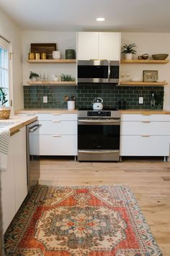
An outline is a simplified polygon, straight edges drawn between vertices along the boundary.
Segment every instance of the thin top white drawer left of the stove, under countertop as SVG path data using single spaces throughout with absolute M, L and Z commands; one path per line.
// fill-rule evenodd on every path
M 77 114 L 58 114 L 58 113 L 53 113 L 53 114 L 37 114 L 38 120 L 42 121 L 53 121 L 53 120 L 77 120 Z

